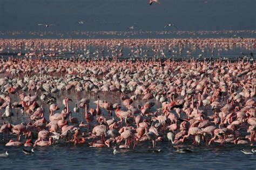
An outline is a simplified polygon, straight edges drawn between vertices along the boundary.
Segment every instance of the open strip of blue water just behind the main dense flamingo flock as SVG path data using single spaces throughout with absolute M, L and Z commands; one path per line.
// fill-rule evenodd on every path
M 226 50 L 222 50 L 220 52 L 218 52 L 218 49 L 211 49 L 210 47 L 205 47 L 205 52 L 202 52 L 202 49 L 197 49 L 195 51 L 191 51 L 191 46 L 186 46 L 183 51 L 181 53 L 179 53 L 179 48 L 173 47 L 172 50 L 176 51 L 176 52 L 172 52 L 172 51 L 168 51 L 168 47 L 167 46 L 162 46 L 161 49 L 163 50 L 163 52 L 165 53 L 165 56 L 159 54 L 156 54 L 152 51 L 151 46 L 142 46 L 142 48 L 144 50 L 149 50 L 149 52 L 144 52 L 140 55 L 131 55 L 132 52 L 132 48 L 129 46 L 124 46 L 123 47 L 123 56 L 122 57 L 118 57 L 119 60 L 123 60 L 123 59 L 152 59 L 152 58 L 156 58 L 156 59 L 173 59 L 173 60 L 181 60 L 181 59 L 190 59 L 190 58 L 196 58 L 199 60 L 203 60 L 203 59 L 207 59 L 207 58 L 213 58 L 213 59 L 219 59 L 219 58 L 228 58 L 230 60 L 236 61 L 238 60 L 238 58 L 243 58 L 243 57 L 248 57 L 251 58 L 251 54 L 255 57 L 255 53 L 256 53 L 256 49 L 252 48 L 252 49 L 246 49 L 244 47 L 234 47 L 232 49 L 226 49 Z M 90 55 L 86 55 L 86 51 L 83 50 L 78 50 L 76 52 L 65 52 L 65 53 L 61 53 L 61 54 L 56 54 L 55 57 L 53 58 L 58 58 L 58 59 L 66 59 L 66 58 L 87 58 L 87 59 L 112 59 L 113 55 L 110 55 L 110 53 L 104 52 L 104 53 L 99 53 L 97 55 L 93 55 L 92 53 L 95 52 L 97 49 L 96 46 L 87 46 L 86 50 L 90 50 L 91 54 Z M 104 50 L 107 51 L 107 46 L 104 46 Z M 213 50 L 213 52 L 212 52 Z M 187 51 L 190 51 L 191 53 L 187 53 Z M 24 51 L 22 50 L 22 56 L 18 57 L 17 54 L 19 53 L 18 50 L 10 50 L 9 53 L 2 53 L 0 57 L 3 57 L 4 59 L 8 59 L 9 57 L 14 57 L 14 58 L 24 58 L 25 57 L 25 53 L 27 52 L 31 52 L 31 51 Z M 50 51 L 46 51 L 49 52 Z M 199 57 L 199 55 L 201 55 Z M 80 57 L 79 57 L 80 56 Z M 31 58 L 36 58 L 36 57 L 31 57 Z M 49 57 L 44 57 L 45 59 L 51 59 Z

